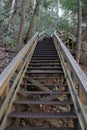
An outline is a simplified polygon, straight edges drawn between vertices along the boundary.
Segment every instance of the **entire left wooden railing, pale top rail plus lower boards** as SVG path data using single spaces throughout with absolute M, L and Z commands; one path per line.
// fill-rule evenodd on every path
M 20 88 L 19 84 L 22 81 L 23 75 L 25 74 L 25 71 L 31 60 L 32 54 L 34 52 L 34 49 L 36 47 L 36 44 L 40 36 L 41 37 L 44 36 L 44 33 L 43 34 L 36 33 L 0 75 L 0 96 L 1 97 L 3 97 L 3 93 L 4 91 L 6 91 L 8 86 L 7 95 L 4 96 L 5 98 L 0 108 L 0 120 L 2 122 L 6 120 L 9 111 L 11 111 L 11 105 L 13 99 L 15 98 L 16 93 Z M 9 88 L 10 80 L 12 76 L 15 74 L 16 70 L 18 70 L 18 74 L 16 75 L 13 84 Z M 4 123 L 2 123 L 0 129 L 3 127 L 3 125 Z

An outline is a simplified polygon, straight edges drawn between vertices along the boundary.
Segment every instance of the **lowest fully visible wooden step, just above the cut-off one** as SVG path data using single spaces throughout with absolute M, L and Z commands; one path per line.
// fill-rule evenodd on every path
M 50 119 L 77 119 L 77 116 L 70 112 L 65 113 L 46 113 L 46 112 L 12 112 L 9 114 L 8 118 L 23 118 L 23 119 L 29 119 L 29 118 L 50 118 Z

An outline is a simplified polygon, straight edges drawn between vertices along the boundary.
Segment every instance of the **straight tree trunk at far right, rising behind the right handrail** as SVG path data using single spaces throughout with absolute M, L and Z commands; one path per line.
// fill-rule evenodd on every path
M 82 35 L 82 2 L 78 0 L 78 25 L 77 25 L 77 40 L 76 40 L 76 61 L 80 61 L 81 53 L 81 35 Z

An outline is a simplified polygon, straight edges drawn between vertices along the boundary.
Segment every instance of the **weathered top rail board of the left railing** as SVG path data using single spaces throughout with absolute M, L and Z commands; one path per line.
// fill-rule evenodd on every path
M 31 40 L 22 48 L 22 50 L 17 54 L 17 56 L 12 60 L 12 62 L 5 68 L 5 70 L 0 75 L 0 96 L 2 95 L 5 87 L 7 86 L 9 80 L 11 79 L 12 75 L 21 64 L 24 56 L 29 51 L 32 43 L 38 37 L 38 33 L 36 33 Z

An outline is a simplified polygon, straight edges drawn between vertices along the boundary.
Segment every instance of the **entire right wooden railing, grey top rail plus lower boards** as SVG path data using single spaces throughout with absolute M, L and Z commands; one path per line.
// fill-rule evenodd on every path
M 66 80 L 71 92 L 72 100 L 77 112 L 79 123 L 82 130 L 87 128 L 87 117 L 84 110 L 84 104 L 81 101 L 80 95 L 76 90 L 79 87 L 81 90 L 81 96 L 83 94 L 85 100 L 87 99 L 87 77 L 73 58 L 69 50 L 65 47 L 59 36 L 54 33 L 54 43 L 61 59 L 62 67 L 66 76 Z

